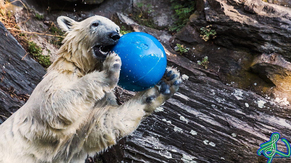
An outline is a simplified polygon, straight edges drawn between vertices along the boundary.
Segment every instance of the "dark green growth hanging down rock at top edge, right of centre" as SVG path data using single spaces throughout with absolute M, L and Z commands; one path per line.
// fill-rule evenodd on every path
M 171 0 L 171 9 L 175 11 L 172 18 L 176 21 L 169 27 L 169 31 L 179 32 L 187 24 L 189 17 L 196 10 L 196 2 L 196 0 Z

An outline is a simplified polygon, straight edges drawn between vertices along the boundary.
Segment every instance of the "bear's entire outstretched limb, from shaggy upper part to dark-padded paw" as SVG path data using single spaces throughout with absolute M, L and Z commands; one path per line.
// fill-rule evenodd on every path
M 92 117 L 87 149 L 106 149 L 132 133 L 140 122 L 178 91 L 182 79 L 173 67 L 168 67 L 162 80 L 148 90 L 138 92 L 118 107 L 107 107 Z M 94 123 L 95 122 L 95 123 Z M 89 150 L 90 151 L 90 150 Z

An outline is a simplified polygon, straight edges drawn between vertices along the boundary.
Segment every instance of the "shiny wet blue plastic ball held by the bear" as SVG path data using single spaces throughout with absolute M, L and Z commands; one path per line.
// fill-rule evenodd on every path
M 162 44 L 152 35 L 132 32 L 120 37 L 111 49 L 121 58 L 118 85 L 129 91 L 155 86 L 166 71 L 167 58 Z

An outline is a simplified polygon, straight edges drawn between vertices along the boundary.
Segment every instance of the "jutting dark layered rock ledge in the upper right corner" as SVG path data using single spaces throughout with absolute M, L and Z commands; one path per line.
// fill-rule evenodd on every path
M 196 16 L 190 20 L 198 31 L 212 25 L 214 43 L 232 50 L 278 53 L 291 61 L 291 8 L 262 0 L 198 0 Z

